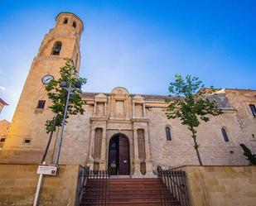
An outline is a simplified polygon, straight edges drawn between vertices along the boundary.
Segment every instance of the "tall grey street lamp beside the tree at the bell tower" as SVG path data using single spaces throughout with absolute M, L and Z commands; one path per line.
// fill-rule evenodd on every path
M 66 117 L 66 114 L 67 114 L 67 111 L 68 111 L 68 107 L 69 107 L 70 95 L 75 94 L 75 90 L 76 89 L 81 89 L 82 84 L 80 82 L 75 82 L 75 88 L 73 88 L 72 87 L 72 82 L 70 80 L 69 84 L 67 82 L 61 82 L 60 83 L 60 87 L 63 88 L 63 89 L 67 89 L 68 95 L 66 97 L 65 112 L 64 112 L 64 117 L 63 117 L 62 125 L 61 125 L 60 138 L 59 138 L 58 145 L 57 145 L 57 150 L 56 150 L 56 161 L 55 161 L 56 165 L 59 164 L 60 149 L 61 149 L 61 145 L 62 145 L 63 132 L 64 132 L 64 127 L 65 127 L 65 117 Z

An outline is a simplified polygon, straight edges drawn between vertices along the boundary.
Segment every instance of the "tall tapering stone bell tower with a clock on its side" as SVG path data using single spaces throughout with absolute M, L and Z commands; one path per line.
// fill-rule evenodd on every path
M 58 79 L 64 58 L 71 58 L 77 69 L 80 68 L 80 36 L 83 22 L 73 13 L 61 12 L 56 17 L 56 26 L 44 36 L 40 49 L 34 58 L 27 80 L 12 118 L 0 162 L 39 163 L 49 135 L 45 123 L 54 114 L 48 108 L 45 85 Z M 58 132 L 55 132 L 56 137 Z M 53 138 L 48 162 L 54 156 Z

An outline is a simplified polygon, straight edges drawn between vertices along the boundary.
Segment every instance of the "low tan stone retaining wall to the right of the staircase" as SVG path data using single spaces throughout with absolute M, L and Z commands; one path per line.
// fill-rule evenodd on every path
M 185 166 L 191 206 L 255 206 L 256 166 Z

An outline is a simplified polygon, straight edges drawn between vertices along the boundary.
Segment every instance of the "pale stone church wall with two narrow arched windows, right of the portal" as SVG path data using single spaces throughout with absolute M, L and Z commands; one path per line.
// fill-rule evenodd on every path
M 200 122 L 197 141 L 204 165 L 247 165 L 239 144 L 255 148 L 253 137 L 246 137 L 240 129 L 234 111 L 218 117 L 210 117 L 210 122 Z M 178 119 L 167 119 L 164 108 L 151 108 L 149 117 L 149 140 L 153 165 L 166 167 L 180 165 L 199 165 L 191 133 Z M 254 125 L 255 122 L 251 122 Z M 165 127 L 171 128 L 171 141 L 167 141 Z M 221 133 L 225 127 L 229 137 L 226 142 Z M 253 130 L 249 132 L 254 133 Z M 254 143 L 254 145 L 252 145 Z M 254 150 L 252 150 L 254 151 Z

